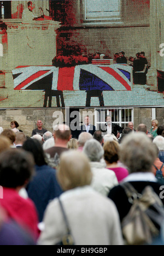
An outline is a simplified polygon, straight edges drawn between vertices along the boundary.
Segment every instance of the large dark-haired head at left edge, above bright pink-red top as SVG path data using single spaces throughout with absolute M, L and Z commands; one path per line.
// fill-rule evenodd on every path
M 22 149 L 8 149 L 0 154 L 0 185 L 6 188 L 24 187 L 34 172 L 34 160 Z

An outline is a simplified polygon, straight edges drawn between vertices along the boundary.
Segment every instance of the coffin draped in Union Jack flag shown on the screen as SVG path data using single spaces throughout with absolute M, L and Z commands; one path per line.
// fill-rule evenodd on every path
M 133 84 L 132 67 L 118 64 L 19 66 L 12 73 L 14 90 L 130 91 Z

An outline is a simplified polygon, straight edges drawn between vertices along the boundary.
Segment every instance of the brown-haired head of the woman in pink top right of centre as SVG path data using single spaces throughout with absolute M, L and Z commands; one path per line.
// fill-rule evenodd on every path
M 113 162 L 118 162 L 119 160 L 119 143 L 116 141 L 108 141 L 104 143 L 104 160 L 109 163 L 113 164 Z

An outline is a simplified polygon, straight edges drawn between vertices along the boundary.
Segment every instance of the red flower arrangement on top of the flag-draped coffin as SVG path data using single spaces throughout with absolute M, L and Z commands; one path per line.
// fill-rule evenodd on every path
M 88 64 L 89 59 L 83 55 L 71 55 L 71 56 L 63 56 L 58 55 L 55 56 L 52 60 L 52 65 L 56 67 L 72 67 L 76 65 Z

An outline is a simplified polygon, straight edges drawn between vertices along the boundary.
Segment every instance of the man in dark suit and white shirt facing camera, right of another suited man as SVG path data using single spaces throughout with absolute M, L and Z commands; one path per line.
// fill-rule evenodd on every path
M 122 130 L 123 128 L 121 126 L 112 123 L 112 118 L 110 117 L 110 115 L 107 115 L 106 117 L 106 124 L 101 125 L 101 131 L 103 132 L 103 135 L 114 134 L 116 138 L 119 138 Z

